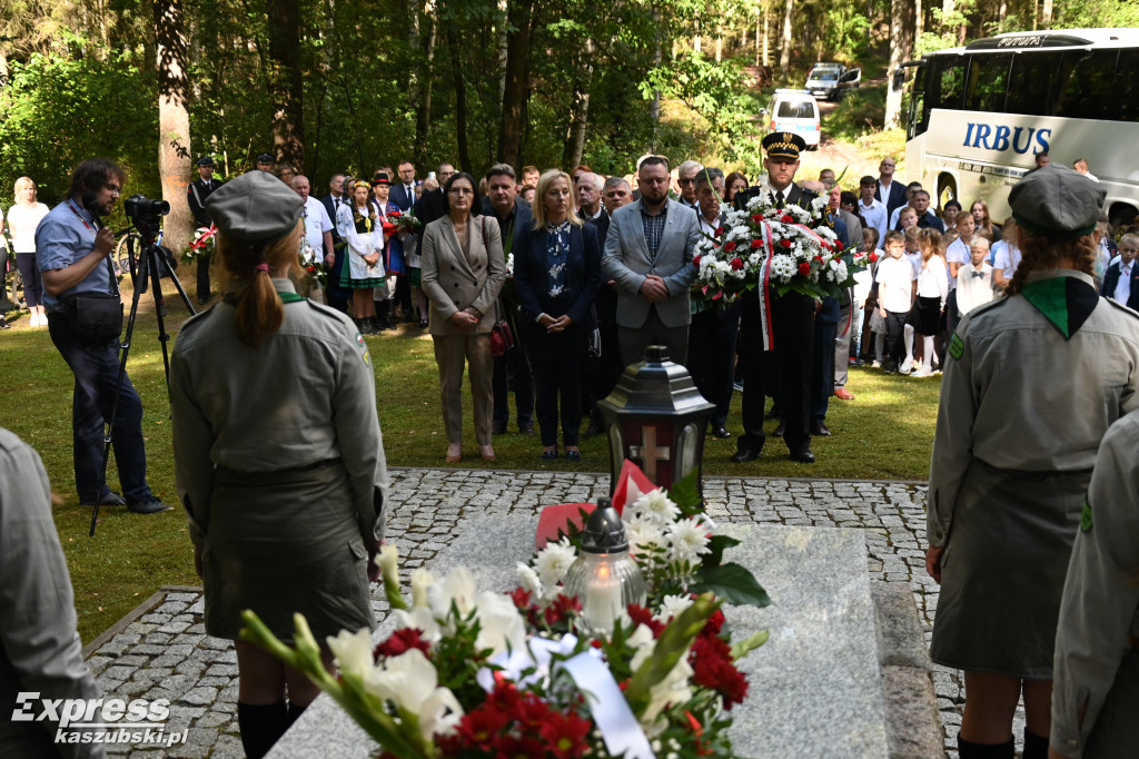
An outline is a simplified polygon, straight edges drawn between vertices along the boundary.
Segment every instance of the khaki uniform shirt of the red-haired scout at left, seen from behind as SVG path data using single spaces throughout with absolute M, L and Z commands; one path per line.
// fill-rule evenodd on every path
M 288 279 L 273 279 L 293 293 Z M 182 325 L 170 360 L 178 495 L 202 545 L 215 466 L 276 472 L 339 459 L 360 534 L 384 536 L 387 465 L 376 376 L 352 320 L 312 301 L 286 303 L 277 334 L 241 343 L 235 309 L 219 303 Z

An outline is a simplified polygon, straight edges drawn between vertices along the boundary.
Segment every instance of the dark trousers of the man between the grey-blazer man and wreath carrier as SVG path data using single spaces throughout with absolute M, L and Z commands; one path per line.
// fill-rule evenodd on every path
M 700 311 L 693 316 L 688 327 L 688 373 L 700 395 L 715 403 L 715 411 L 708 418 L 713 426 L 728 419 L 738 336 L 738 302 L 728 309 Z

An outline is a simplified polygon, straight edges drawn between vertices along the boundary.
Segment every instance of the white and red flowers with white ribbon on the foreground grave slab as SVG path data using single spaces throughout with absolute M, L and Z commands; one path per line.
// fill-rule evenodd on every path
M 770 602 L 747 570 L 722 562 L 736 541 L 712 533 L 693 482 L 669 495 L 622 490 L 647 593 L 604 634 L 567 594 L 583 549 L 571 525 L 518 563 L 509 594 L 480 591 L 465 568 L 417 569 L 409 601 L 398 552 L 384 546 L 377 564 L 396 629 L 375 647 L 367 628 L 329 637 L 338 676 L 301 615 L 294 648 L 248 611 L 241 637 L 304 671 L 385 759 L 731 757 L 730 710 L 747 694 L 737 662 L 768 635 L 734 642 L 720 606 Z

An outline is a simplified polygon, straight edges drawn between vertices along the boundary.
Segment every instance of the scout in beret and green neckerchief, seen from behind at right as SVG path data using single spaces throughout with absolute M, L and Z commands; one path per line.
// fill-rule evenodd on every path
M 1060 599 L 1100 441 L 1139 409 L 1139 315 L 1092 278 L 1104 196 L 1056 164 L 1022 179 L 1009 205 L 1023 258 L 1007 296 L 966 315 L 947 351 L 926 569 L 941 583 L 929 654 L 965 671 L 961 759 L 1013 756 L 1022 693 L 1027 725 L 1048 725 L 1051 704 L 1064 717 L 1054 745 L 1080 748 L 1068 743 L 1079 691 L 1052 689 Z M 1093 668 L 1083 655 L 1067 664 L 1070 682 Z M 1047 753 L 1048 736 L 1025 728 L 1024 756 Z

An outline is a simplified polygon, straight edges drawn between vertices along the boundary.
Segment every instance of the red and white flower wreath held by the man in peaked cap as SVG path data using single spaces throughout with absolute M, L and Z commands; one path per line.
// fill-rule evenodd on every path
M 761 193 L 745 209 L 724 204 L 721 211 L 723 226 L 697 242 L 693 260 L 693 286 L 706 302 L 728 305 L 760 285 L 821 299 L 851 286 L 867 266 L 866 255 L 844 250 L 827 223 L 826 196 L 808 209 L 777 209 Z

